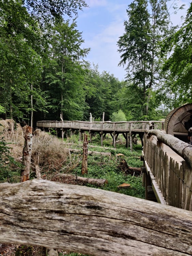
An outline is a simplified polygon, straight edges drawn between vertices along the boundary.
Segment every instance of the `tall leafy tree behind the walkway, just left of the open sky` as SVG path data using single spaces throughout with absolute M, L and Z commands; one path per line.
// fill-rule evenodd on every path
M 65 120 L 82 119 L 86 109 L 84 94 L 84 60 L 89 48 L 81 48 L 82 32 L 76 22 L 63 20 L 53 28 L 50 62 L 46 72 L 46 90 L 56 116 Z M 55 118 L 54 118 L 55 119 Z

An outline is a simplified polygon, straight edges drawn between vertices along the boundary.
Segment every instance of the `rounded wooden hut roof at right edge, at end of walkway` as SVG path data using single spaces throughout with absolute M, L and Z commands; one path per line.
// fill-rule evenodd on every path
M 165 118 L 165 131 L 174 136 L 174 132 L 187 133 L 184 123 L 192 115 L 192 103 L 184 104 L 171 112 Z

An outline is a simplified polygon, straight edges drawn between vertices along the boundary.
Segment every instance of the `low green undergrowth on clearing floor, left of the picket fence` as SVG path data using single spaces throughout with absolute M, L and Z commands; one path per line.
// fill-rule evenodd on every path
M 106 139 L 104 139 L 105 141 Z M 98 141 L 94 142 L 94 145 L 100 143 Z M 111 143 L 111 140 L 110 140 Z M 112 143 L 111 143 L 112 144 Z M 112 146 L 110 144 L 110 146 Z M 95 179 L 107 179 L 108 183 L 102 187 L 104 190 L 114 191 L 117 193 L 123 193 L 126 195 L 134 196 L 134 197 L 145 197 L 145 188 L 142 187 L 142 179 L 138 176 L 125 175 L 119 169 L 119 164 L 122 159 L 125 159 L 128 166 L 131 167 L 141 167 L 141 144 L 133 145 L 133 152 L 130 149 L 125 148 L 124 144 L 117 144 L 117 149 L 104 149 L 103 147 L 95 147 L 94 151 L 98 152 L 111 152 L 112 156 L 88 156 L 88 174 L 86 177 L 95 178 Z M 123 154 L 124 156 L 116 156 L 118 153 Z M 81 168 L 80 165 L 73 170 L 78 176 L 81 176 Z M 129 183 L 131 185 L 130 189 L 122 189 L 118 190 L 117 186 L 122 183 Z M 90 187 L 96 187 L 91 184 L 87 184 Z

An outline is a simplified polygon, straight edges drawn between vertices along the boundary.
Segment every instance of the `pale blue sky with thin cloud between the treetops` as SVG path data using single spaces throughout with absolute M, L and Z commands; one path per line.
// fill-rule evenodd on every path
M 120 53 L 117 41 L 124 33 L 124 20 L 127 20 L 128 5 L 131 0 L 87 0 L 89 8 L 78 12 L 77 29 L 82 32 L 85 43 L 82 47 L 91 48 L 86 60 L 91 65 L 98 65 L 99 72 L 114 74 L 120 81 L 125 78 L 125 67 L 118 67 Z M 170 1 L 175 2 L 174 0 Z M 178 0 L 178 5 L 186 4 L 184 10 L 171 15 L 174 25 L 182 24 L 181 15 L 186 15 L 189 1 Z

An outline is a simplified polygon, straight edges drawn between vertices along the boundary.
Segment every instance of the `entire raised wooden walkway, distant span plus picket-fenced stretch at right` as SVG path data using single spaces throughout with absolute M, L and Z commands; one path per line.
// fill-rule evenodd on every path
M 152 123 L 152 131 L 161 130 L 162 136 L 165 134 L 164 123 L 159 121 L 150 121 Z M 146 130 L 149 129 L 149 122 L 132 121 L 132 122 L 83 122 L 83 121 L 39 121 L 37 127 L 51 132 L 56 129 L 57 134 L 61 131 L 63 138 L 64 132 L 70 130 L 71 135 L 74 131 L 79 132 L 79 140 L 82 139 L 83 132 L 88 131 L 90 141 L 94 133 L 99 133 L 101 137 L 101 145 L 103 146 L 103 138 L 109 133 L 113 138 L 113 145 L 116 146 L 118 135 L 123 134 L 126 139 L 126 146 L 130 143 L 132 150 L 132 139 L 136 134 L 142 140 L 143 146 L 143 185 L 146 188 L 146 199 L 151 195 L 153 189 L 154 196 L 157 201 L 162 204 L 172 205 L 182 209 L 192 209 L 192 168 L 189 161 L 184 161 L 185 156 L 176 153 L 168 143 L 158 141 L 156 136 L 144 136 Z M 184 134 L 184 133 L 183 133 Z M 167 135 L 167 134 L 166 134 Z M 187 134 L 186 134 L 187 136 Z M 129 140 L 130 138 L 130 140 Z M 144 145 L 143 145 L 144 138 Z M 172 138 L 175 138 L 172 136 Z M 178 139 L 175 138 L 176 144 Z M 190 148 L 192 155 L 192 146 L 180 141 L 184 147 Z M 191 159 L 192 162 L 192 159 Z M 151 189 L 150 189 L 151 188 Z M 152 195 L 153 196 L 153 195 Z

